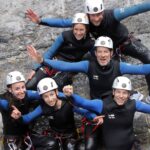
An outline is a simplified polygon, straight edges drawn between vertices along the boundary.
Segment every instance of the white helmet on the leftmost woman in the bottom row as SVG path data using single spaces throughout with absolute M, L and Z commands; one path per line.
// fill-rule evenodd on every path
M 25 82 L 23 74 L 19 71 L 12 71 L 6 76 L 6 85 L 11 85 L 17 82 Z

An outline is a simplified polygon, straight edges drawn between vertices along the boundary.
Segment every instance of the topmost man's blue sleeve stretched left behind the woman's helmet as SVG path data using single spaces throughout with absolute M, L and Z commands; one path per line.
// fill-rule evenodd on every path
M 41 20 L 40 24 L 50 27 L 67 28 L 72 26 L 72 19 L 45 18 Z

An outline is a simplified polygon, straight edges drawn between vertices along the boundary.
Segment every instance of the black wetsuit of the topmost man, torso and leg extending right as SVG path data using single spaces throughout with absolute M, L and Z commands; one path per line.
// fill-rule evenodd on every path
M 136 39 L 128 33 L 128 29 L 117 21 L 114 16 L 114 9 L 104 10 L 104 18 L 99 26 L 89 25 L 89 32 L 94 38 L 108 36 L 113 40 L 114 50 L 120 48 L 121 53 L 139 59 L 144 64 L 150 63 L 150 52 L 141 40 Z M 146 76 L 147 85 L 150 91 L 150 75 Z

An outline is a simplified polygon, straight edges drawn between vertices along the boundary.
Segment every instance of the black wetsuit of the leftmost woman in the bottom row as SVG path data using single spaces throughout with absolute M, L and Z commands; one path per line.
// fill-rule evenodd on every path
M 29 112 L 29 102 L 27 100 L 27 96 L 19 101 L 16 100 L 15 97 L 12 96 L 11 93 L 6 92 L 0 95 L 1 99 L 8 100 L 8 106 L 14 105 L 21 114 L 26 114 Z M 4 134 L 4 149 L 11 150 L 9 144 L 15 142 L 18 148 L 22 150 L 25 149 L 24 145 L 24 137 L 28 132 L 28 125 L 24 125 L 22 123 L 16 122 L 13 118 L 11 118 L 11 107 L 8 110 L 1 109 L 2 120 L 3 120 L 3 134 Z

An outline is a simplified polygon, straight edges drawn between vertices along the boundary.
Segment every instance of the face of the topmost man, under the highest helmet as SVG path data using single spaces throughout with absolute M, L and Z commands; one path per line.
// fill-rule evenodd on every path
M 103 20 L 104 12 L 96 13 L 96 14 L 88 14 L 90 22 L 94 26 L 99 26 Z

